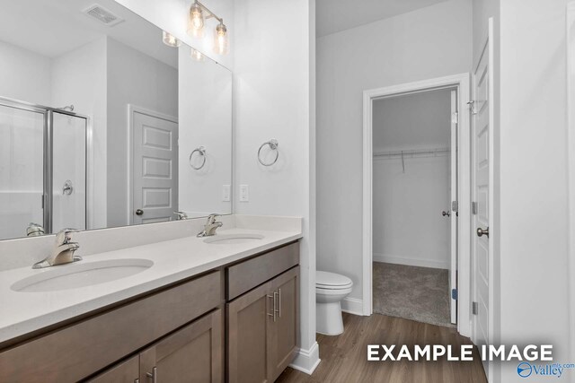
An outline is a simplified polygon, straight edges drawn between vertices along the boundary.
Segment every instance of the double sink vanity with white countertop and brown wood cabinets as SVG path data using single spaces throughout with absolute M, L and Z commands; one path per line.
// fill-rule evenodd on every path
M 0 381 L 277 379 L 297 352 L 301 221 L 240 217 L 213 236 L 0 272 Z

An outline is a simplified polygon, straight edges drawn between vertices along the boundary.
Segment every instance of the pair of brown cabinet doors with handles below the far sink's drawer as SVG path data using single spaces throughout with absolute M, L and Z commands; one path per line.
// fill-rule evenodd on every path
M 227 303 L 227 379 L 272 382 L 297 352 L 299 266 Z

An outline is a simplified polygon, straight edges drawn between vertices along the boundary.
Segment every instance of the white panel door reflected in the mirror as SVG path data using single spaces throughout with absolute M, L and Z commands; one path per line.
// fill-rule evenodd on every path
M 171 221 L 178 210 L 178 124 L 133 113 L 132 222 Z

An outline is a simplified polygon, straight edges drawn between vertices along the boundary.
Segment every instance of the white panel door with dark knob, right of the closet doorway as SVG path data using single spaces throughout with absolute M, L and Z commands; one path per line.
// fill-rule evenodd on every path
M 473 287 L 473 342 L 491 342 L 491 244 L 492 227 L 492 75 L 491 22 L 488 43 L 473 73 L 472 105 L 472 287 Z M 489 366 L 483 362 L 489 376 Z

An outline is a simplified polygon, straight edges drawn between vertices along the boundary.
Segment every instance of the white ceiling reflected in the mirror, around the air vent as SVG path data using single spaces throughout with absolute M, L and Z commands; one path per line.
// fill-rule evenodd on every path
M 124 22 L 107 26 L 83 13 L 93 4 L 102 5 Z M 113 0 L 18 0 L 2 4 L 0 40 L 44 57 L 59 57 L 103 36 L 177 66 L 176 50 L 164 46 L 162 30 Z

